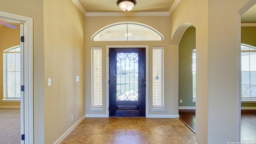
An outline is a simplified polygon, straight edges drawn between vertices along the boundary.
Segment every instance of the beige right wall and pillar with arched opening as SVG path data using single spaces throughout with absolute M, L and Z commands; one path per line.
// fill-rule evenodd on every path
M 240 10 L 249 0 L 181 1 L 171 15 L 172 47 L 196 27 L 196 142 L 240 140 Z M 255 0 L 251 0 L 255 3 Z M 249 4 L 252 6 L 253 4 Z M 232 8 L 230 6 L 232 5 Z M 246 8 L 250 8 L 246 6 Z M 246 9 L 245 8 L 245 9 Z M 178 60 L 177 60 L 178 61 Z

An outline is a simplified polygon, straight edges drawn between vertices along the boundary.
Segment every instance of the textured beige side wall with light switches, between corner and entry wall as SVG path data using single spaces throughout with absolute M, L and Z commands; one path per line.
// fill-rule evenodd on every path
M 52 144 L 85 114 L 84 16 L 71 0 L 44 0 L 44 68 L 45 144 Z

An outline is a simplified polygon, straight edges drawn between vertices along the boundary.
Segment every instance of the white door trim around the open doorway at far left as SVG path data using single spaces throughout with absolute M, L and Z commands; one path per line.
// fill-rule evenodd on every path
M 0 18 L 24 24 L 24 143 L 33 144 L 33 19 L 1 11 Z

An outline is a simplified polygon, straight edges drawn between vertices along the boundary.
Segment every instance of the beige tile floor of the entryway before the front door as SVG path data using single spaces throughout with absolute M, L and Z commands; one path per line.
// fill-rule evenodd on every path
M 85 118 L 61 144 L 194 144 L 178 118 Z

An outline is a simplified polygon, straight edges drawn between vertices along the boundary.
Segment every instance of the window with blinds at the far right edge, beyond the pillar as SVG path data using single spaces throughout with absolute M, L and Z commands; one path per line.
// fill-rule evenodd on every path
M 241 44 L 241 100 L 256 101 L 256 47 Z

